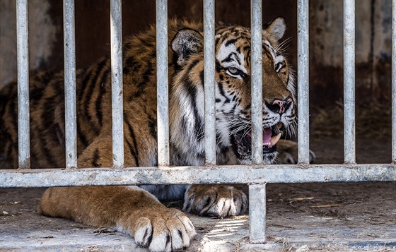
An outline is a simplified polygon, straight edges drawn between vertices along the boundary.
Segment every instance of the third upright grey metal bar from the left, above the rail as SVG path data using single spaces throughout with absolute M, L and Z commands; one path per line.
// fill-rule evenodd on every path
M 124 167 L 121 0 L 110 1 L 110 41 L 112 72 L 112 165 L 115 168 L 120 168 Z

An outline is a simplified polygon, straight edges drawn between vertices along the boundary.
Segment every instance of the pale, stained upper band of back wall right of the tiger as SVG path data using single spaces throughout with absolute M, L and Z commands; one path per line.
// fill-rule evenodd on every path
M 343 1 L 316 0 L 310 5 L 311 44 L 325 66 L 343 65 Z M 356 1 L 356 61 L 368 63 L 390 59 L 392 47 L 391 0 Z M 371 57 L 373 56 L 373 59 Z

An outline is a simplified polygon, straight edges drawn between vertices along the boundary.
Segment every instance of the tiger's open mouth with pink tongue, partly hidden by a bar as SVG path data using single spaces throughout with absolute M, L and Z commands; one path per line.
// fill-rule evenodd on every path
M 281 133 L 276 126 L 264 128 L 262 131 L 263 155 L 272 154 L 276 151 L 276 143 L 281 138 Z M 249 159 L 252 155 L 252 133 L 250 131 L 238 131 L 233 134 L 234 151 L 238 159 Z

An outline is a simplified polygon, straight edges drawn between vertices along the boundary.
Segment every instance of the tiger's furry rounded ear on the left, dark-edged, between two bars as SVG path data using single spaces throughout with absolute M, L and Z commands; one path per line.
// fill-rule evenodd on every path
M 197 54 L 204 49 L 204 37 L 192 29 L 177 31 L 172 40 L 172 50 L 175 52 L 177 64 L 183 66 L 190 54 Z

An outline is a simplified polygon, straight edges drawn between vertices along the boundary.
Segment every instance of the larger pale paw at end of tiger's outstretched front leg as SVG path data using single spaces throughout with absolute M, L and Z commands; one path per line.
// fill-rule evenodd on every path
M 146 212 L 144 217 L 131 215 L 129 234 L 136 244 L 149 251 L 181 251 L 190 246 L 197 234 L 190 219 L 179 210 L 166 209 L 161 212 Z

